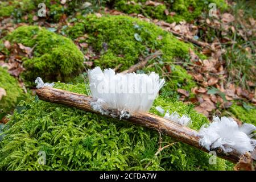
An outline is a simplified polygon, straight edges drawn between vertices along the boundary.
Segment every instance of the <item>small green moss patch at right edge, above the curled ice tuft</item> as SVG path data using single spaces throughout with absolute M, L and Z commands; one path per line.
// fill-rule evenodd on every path
M 245 109 L 242 106 L 233 104 L 229 111 L 242 122 L 251 123 L 256 125 L 256 107 L 250 106 L 250 109 Z

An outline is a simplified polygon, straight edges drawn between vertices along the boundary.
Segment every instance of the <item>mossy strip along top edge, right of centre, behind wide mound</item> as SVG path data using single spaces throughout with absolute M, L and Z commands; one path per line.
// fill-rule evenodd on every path
M 160 3 L 159 3 L 160 2 Z M 135 0 L 133 2 L 121 0 L 115 1 L 114 7 L 127 14 L 137 13 L 156 19 L 166 20 L 166 22 L 180 22 L 186 20 L 191 22 L 198 18 L 203 11 L 208 11 L 209 3 L 215 3 L 217 9 L 226 10 L 228 5 L 224 0 L 174 0 L 157 1 L 154 4 L 147 0 Z

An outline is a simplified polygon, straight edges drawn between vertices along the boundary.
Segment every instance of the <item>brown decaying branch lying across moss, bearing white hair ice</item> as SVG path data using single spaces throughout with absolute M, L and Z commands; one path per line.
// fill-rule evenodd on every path
M 55 89 L 44 87 L 36 90 L 36 94 L 38 95 L 40 100 L 53 102 L 57 104 L 63 104 L 66 106 L 76 107 L 77 109 L 89 111 L 92 113 L 101 114 L 98 111 L 92 109 L 91 103 L 94 102 L 92 97 L 85 96 L 82 94 L 77 94 L 73 92 L 68 92 L 65 90 Z M 113 113 L 118 113 L 116 110 L 111 110 Z M 130 113 L 130 117 L 127 119 L 123 119 L 125 121 L 134 123 L 136 125 L 141 125 L 150 129 L 154 129 L 160 131 L 163 134 L 166 134 L 180 142 L 189 144 L 190 146 L 199 148 L 199 150 L 209 152 L 204 147 L 199 144 L 199 133 L 195 130 L 189 129 L 188 127 L 181 126 L 175 122 L 169 121 L 158 115 L 151 113 Z M 111 117 L 110 115 L 106 115 Z M 220 150 L 216 150 L 217 155 L 220 158 L 229 160 L 230 162 L 237 163 L 240 154 L 234 151 L 230 154 L 226 155 Z

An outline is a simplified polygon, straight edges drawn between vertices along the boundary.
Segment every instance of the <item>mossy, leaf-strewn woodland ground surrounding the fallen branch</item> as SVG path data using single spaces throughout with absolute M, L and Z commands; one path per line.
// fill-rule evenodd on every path
M 40 2 L 45 17 L 38 16 Z M 211 2 L 216 16 L 209 16 Z M 38 101 L 34 80 L 86 93 L 88 69 L 121 72 L 147 60 L 137 73 L 154 71 L 167 82 L 152 113 L 162 106 L 188 114 L 196 130 L 213 115 L 255 125 L 255 6 L 224 0 L 0 2 L 0 169 L 233 169 L 222 159 L 210 166 L 208 154 L 170 137 L 161 145 L 175 144 L 154 156 L 158 133 Z M 40 150 L 51 159 L 46 166 L 37 163 Z

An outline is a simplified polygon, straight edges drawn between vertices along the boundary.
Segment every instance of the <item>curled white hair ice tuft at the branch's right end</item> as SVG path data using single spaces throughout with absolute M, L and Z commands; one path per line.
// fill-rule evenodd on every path
M 239 127 L 232 118 L 214 117 L 209 127 L 201 127 L 199 143 L 207 150 L 220 147 L 225 153 L 236 150 L 240 154 L 245 154 L 246 151 L 254 150 L 250 139 L 253 135 L 250 134 L 255 130 L 256 127 L 251 124 L 245 123 Z

